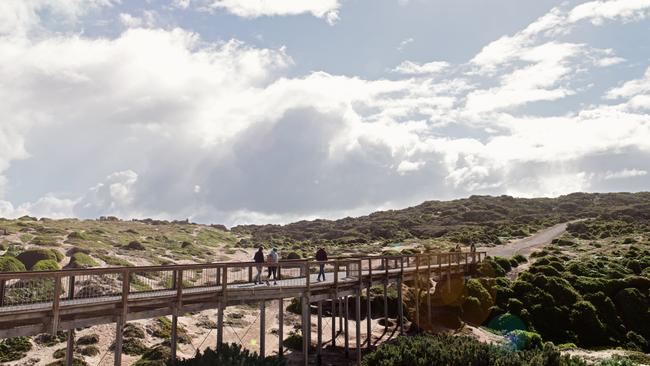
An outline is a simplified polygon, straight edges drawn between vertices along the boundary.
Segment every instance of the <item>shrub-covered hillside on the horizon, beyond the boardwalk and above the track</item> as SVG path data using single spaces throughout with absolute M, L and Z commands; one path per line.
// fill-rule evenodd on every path
M 428 201 L 357 218 L 242 225 L 232 231 L 250 235 L 251 239 L 242 242 L 247 246 L 268 243 L 358 246 L 414 238 L 495 245 L 559 222 L 594 217 L 618 220 L 650 217 L 650 193 L 574 193 L 535 199 L 472 196 L 454 201 Z

